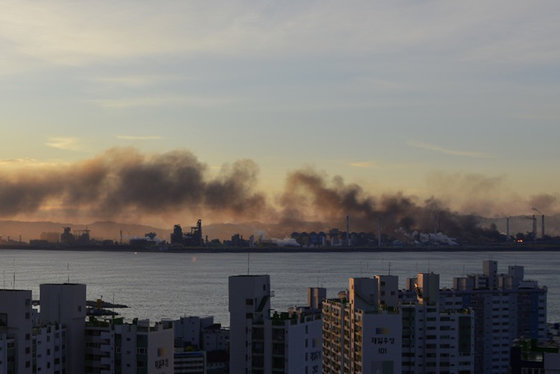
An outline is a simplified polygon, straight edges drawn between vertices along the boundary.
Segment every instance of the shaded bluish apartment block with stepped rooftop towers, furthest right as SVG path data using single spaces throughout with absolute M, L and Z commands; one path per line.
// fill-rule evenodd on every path
M 484 261 L 482 274 L 454 278 L 441 290 L 443 302 L 460 299 L 475 318 L 475 372 L 507 374 L 514 339 L 546 339 L 547 288 L 524 279 L 522 266 L 498 274 L 496 261 Z M 456 302 L 456 301 L 452 301 Z

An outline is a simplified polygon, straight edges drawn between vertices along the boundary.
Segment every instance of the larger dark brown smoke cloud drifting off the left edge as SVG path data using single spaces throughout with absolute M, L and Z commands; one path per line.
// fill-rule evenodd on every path
M 126 212 L 202 210 L 241 217 L 265 208 L 264 196 L 254 190 L 254 162 L 235 162 L 209 178 L 207 167 L 188 151 L 144 155 L 119 148 L 70 166 L 2 174 L 4 217 L 34 213 L 53 203 L 67 212 L 111 218 Z

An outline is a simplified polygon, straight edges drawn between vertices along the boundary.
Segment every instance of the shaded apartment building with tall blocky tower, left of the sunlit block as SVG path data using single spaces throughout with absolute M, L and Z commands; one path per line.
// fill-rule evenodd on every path
M 270 277 L 229 277 L 230 372 L 321 373 L 320 304 L 324 289 L 308 292 L 309 305 L 270 315 Z

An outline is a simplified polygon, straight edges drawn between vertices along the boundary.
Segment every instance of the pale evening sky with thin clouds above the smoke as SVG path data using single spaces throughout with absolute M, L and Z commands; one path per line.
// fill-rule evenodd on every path
M 252 160 L 272 202 L 305 169 L 560 210 L 558 1 L 1 3 L 6 178 L 185 150 L 209 178 Z

